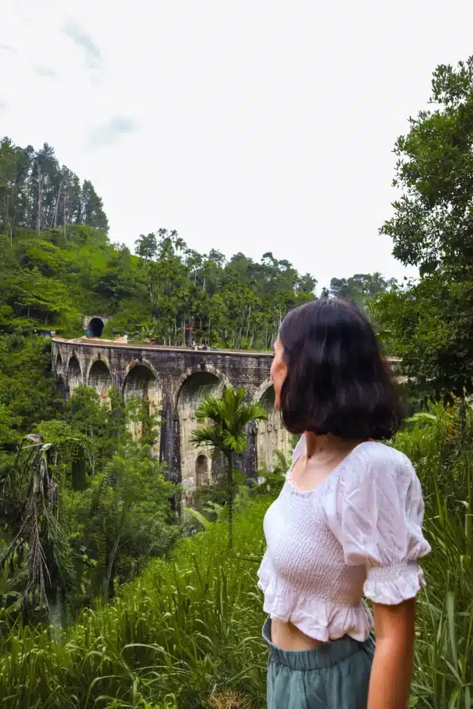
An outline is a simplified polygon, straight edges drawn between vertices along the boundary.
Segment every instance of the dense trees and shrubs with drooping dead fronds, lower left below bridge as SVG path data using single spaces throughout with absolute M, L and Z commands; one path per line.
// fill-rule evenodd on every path
M 41 362 L 43 345 L 25 344 Z M 141 401 L 124 405 L 111 390 L 104 406 L 79 386 L 58 402 L 51 387 L 30 402 L 44 406 L 33 423 L 11 417 L 21 408 L 21 383 L 11 393 L 13 404 L 0 405 L 0 608 L 60 625 L 166 554 L 182 532 L 178 489 L 150 455 L 158 422 Z M 43 418 L 48 411 L 55 418 Z M 134 440 L 130 423 L 138 420 L 145 425 Z

